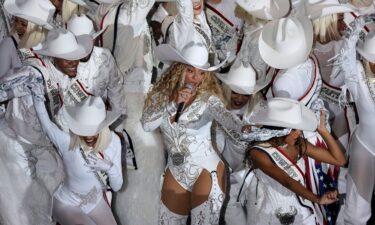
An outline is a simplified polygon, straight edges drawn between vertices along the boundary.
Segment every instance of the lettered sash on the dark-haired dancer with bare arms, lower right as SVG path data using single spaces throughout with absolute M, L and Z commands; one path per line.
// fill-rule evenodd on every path
M 265 153 L 269 155 L 269 157 L 273 160 L 273 162 L 280 167 L 280 169 L 284 170 L 285 173 L 289 175 L 293 180 L 299 182 L 304 187 L 306 187 L 306 176 L 304 171 L 292 160 L 289 159 L 289 157 L 280 149 L 277 147 L 264 147 L 264 146 L 255 146 L 255 148 L 263 150 Z M 296 195 L 299 203 L 301 206 L 306 207 L 310 209 L 312 213 L 315 214 L 317 224 L 323 225 L 323 222 L 319 221 L 319 217 L 316 214 L 316 209 L 313 205 L 313 203 L 307 199 L 304 199 L 298 195 Z

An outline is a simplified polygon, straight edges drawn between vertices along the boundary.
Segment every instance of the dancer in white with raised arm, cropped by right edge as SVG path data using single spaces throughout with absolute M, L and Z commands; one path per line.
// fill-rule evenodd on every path
M 375 54 L 374 31 L 366 35 L 357 47 L 362 59 L 356 60 L 356 44 L 365 22 L 373 24 L 374 14 L 359 17 L 354 22 L 351 35 L 344 42 L 342 67 L 345 84 L 354 99 L 358 111 L 359 123 L 349 145 L 349 172 L 347 196 L 344 211 L 345 224 L 365 225 L 371 217 L 371 198 L 375 185 L 375 139 L 372 132 L 375 127 Z

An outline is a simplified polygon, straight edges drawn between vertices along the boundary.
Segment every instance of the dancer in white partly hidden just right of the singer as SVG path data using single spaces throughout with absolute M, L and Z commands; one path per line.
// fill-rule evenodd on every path
M 238 65 L 239 63 L 239 65 Z M 272 79 L 272 74 L 263 80 L 257 80 L 257 74 L 251 65 L 245 67 L 242 62 L 235 62 L 228 74 L 216 74 L 223 82 L 224 97 L 229 102 L 228 108 L 240 119 L 245 120 L 253 113 L 258 104 L 265 104 L 264 97 L 260 91 Z M 257 107 L 260 108 L 260 107 Z M 225 222 L 228 225 L 246 224 L 246 188 L 251 180 L 251 168 L 245 164 L 245 153 L 248 142 L 241 141 L 241 136 L 214 123 L 217 150 L 221 153 L 228 168 L 229 193 L 228 203 L 225 209 Z

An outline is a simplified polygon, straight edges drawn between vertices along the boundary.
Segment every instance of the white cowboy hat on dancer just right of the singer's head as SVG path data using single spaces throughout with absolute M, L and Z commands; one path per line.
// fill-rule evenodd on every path
M 257 80 L 257 74 L 251 65 L 245 67 L 232 65 L 228 74 L 216 73 L 216 76 L 225 83 L 232 91 L 241 95 L 252 95 L 263 89 L 272 80 L 271 73 L 267 74 L 265 80 Z

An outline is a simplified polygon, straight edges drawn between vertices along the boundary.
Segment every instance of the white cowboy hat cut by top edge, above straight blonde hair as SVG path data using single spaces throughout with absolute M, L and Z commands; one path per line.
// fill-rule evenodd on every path
M 305 8 L 308 17 L 312 20 L 336 13 L 357 11 L 353 5 L 341 4 L 338 0 L 308 0 Z

